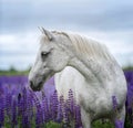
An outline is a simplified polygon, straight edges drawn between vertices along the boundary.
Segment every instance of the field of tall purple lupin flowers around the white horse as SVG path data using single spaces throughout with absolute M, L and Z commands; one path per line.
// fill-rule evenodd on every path
M 133 128 L 133 72 L 125 72 L 127 81 L 125 128 Z M 41 92 L 29 89 L 27 76 L 0 76 L 0 128 L 82 128 L 80 106 L 68 92 L 68 100 L 58 98 L 53 77 Z M 115 96 L 112 96 L 116 104 Z M 114 110 L 116 110 L 116 106 Z M 115 128 L 123 122 L 116 120 Z M 93 128 L 114 128 L 98 120 Z

